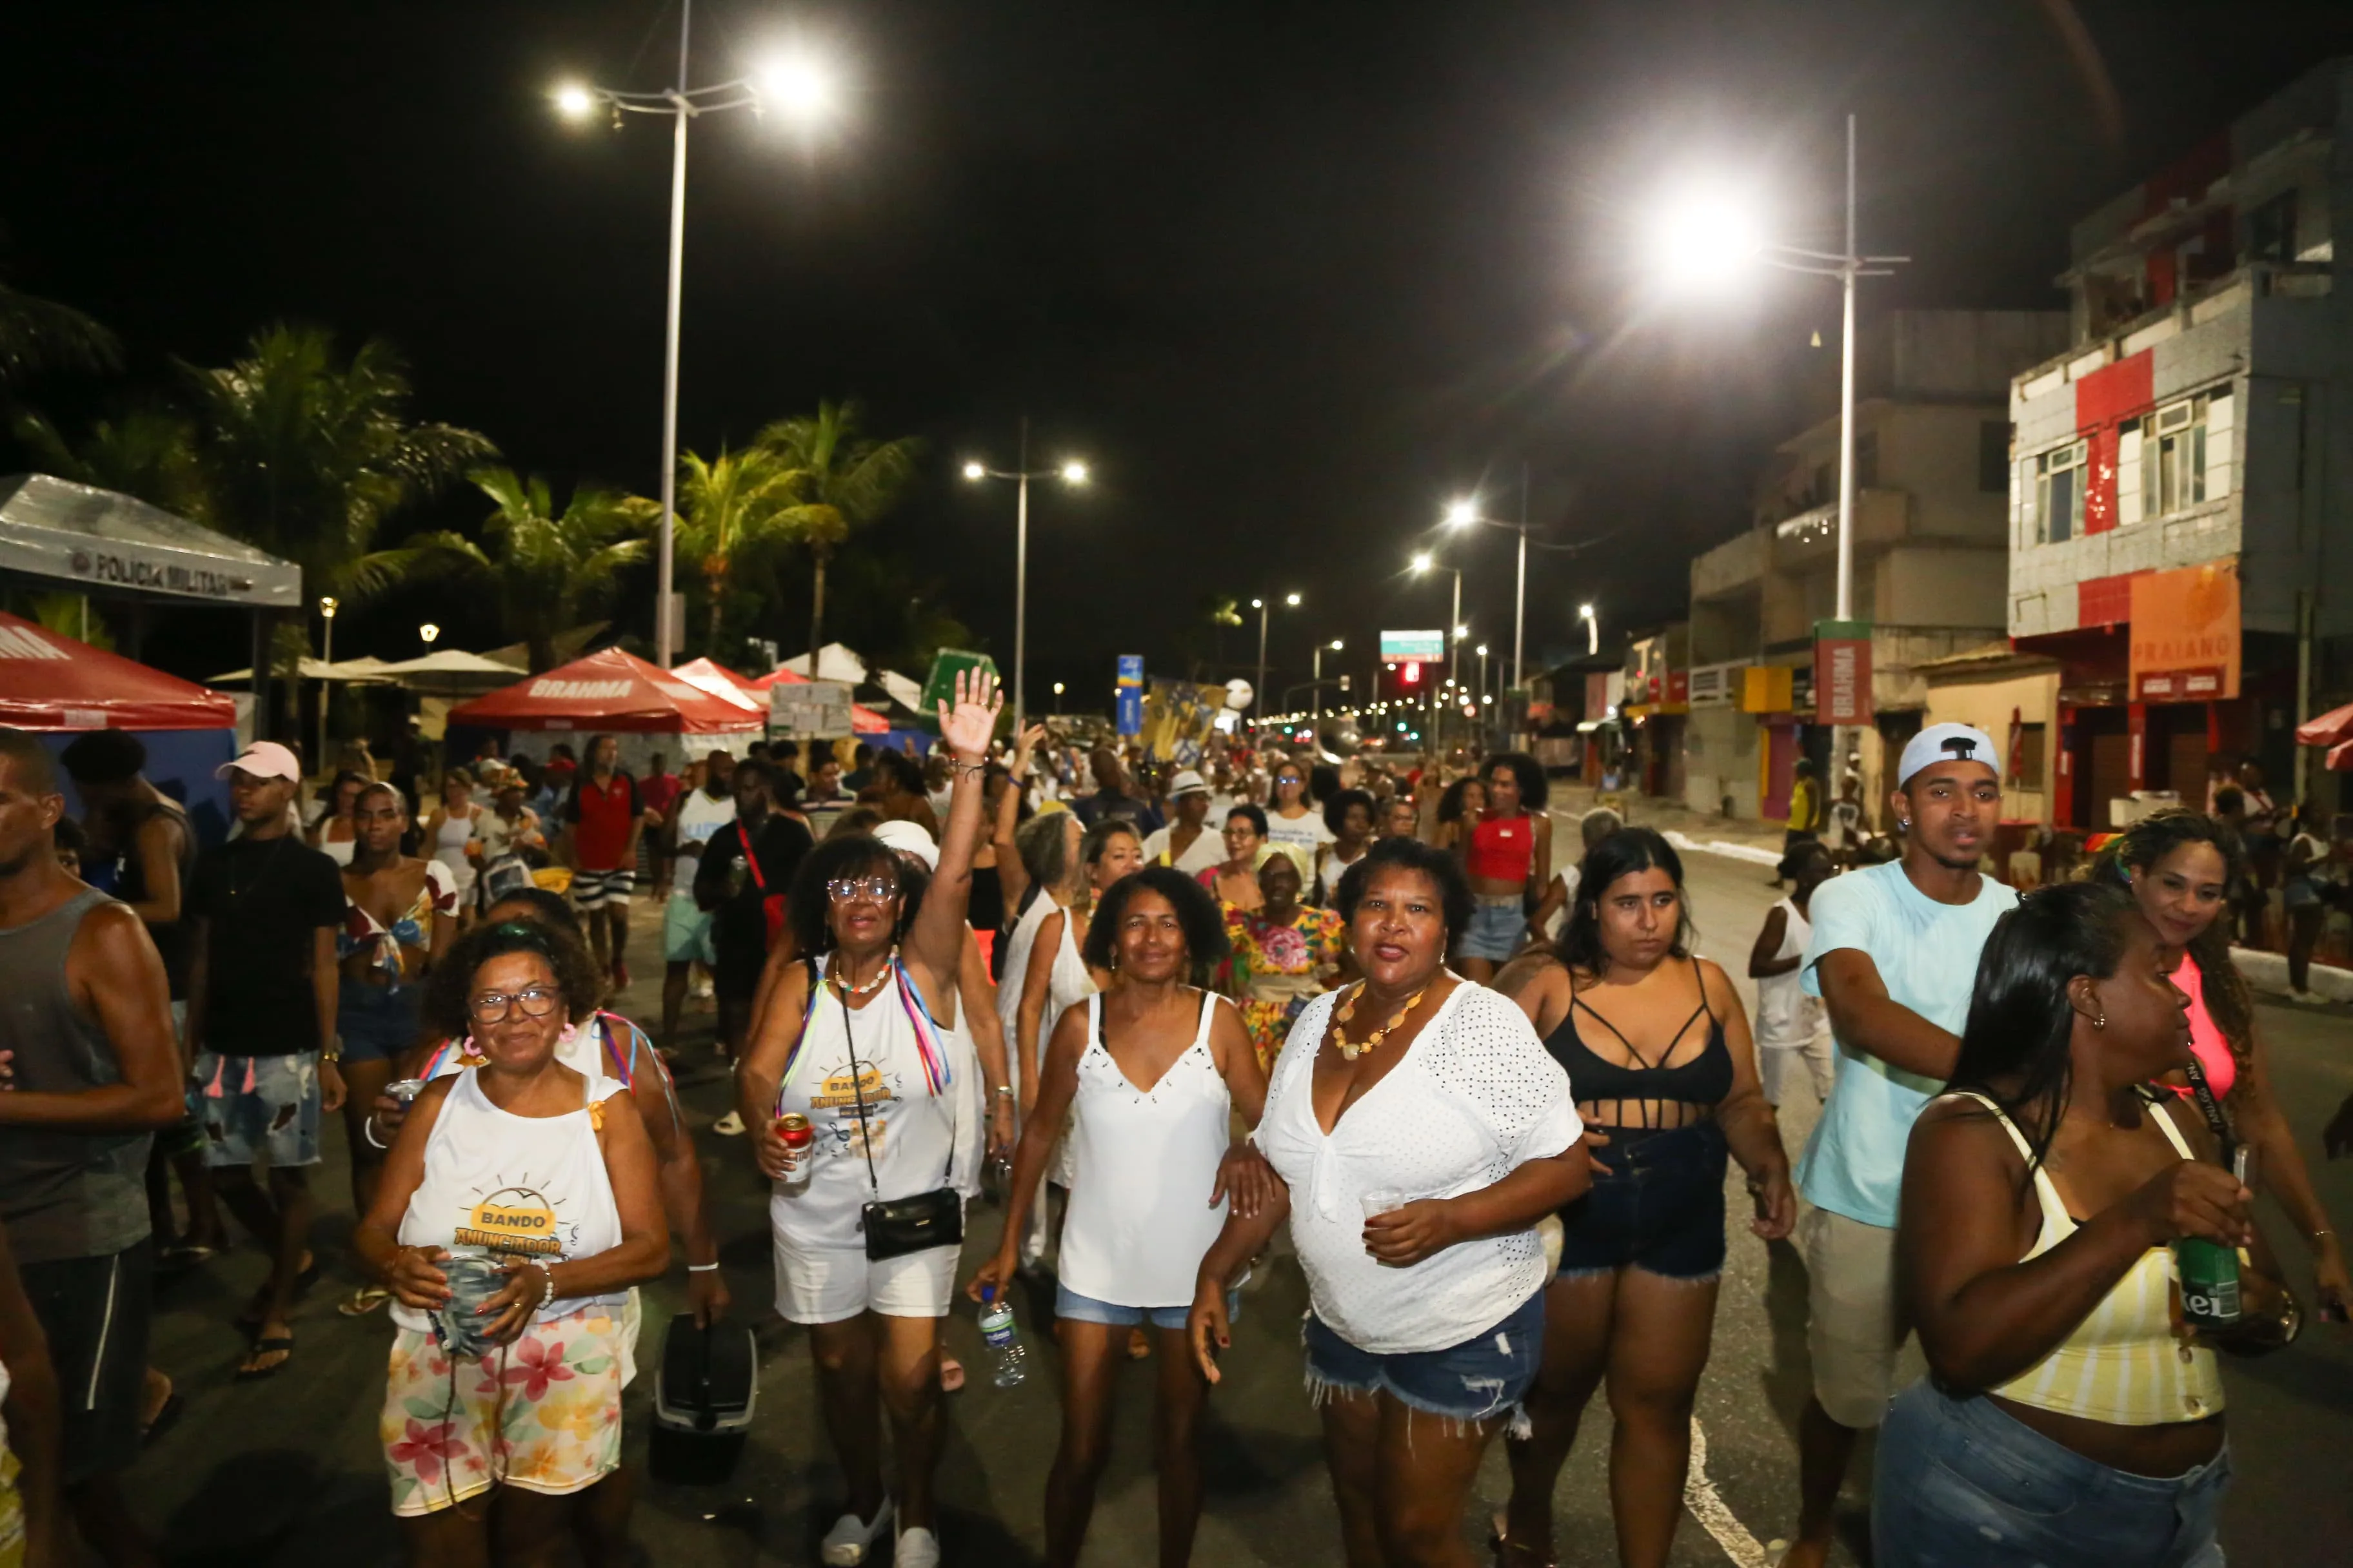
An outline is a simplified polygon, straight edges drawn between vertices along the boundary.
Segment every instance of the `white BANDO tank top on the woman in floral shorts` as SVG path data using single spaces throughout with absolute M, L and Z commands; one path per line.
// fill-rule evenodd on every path
M 569 1262 L 621 1246 L 621 1208 L 591 1114 L 616 1093 L 626 1093 L 624 1086 L 598 1074 L 586 1081 L 579 1110 L 515 1117 L 489 1103 L 480 1072 L 459 1074 L 426 1140 L 424 1180 L 400 1215 L 400 1246 L 525 1262 Z M 626 1291 L 558 1295 L 536 1319 L 593 1305 L 619 1309 L 626 1300 Z M 421 1333 L 433 1328 L 428 1314 L 398 1298 L 393 1321 Z

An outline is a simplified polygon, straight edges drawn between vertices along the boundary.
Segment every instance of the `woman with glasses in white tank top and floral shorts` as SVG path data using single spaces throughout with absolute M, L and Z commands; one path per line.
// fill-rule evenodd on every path
M 475 926 L 426 980 L 426 1020 L 480 1065 L 416 1095 L 353 1237 L 393 1293 L 379 1432 L 412 1563 L 489 1563 L 492 1540 L 553 1561 L 621 1462 L 621 1307 L 671 1237 L 628 1091 L 558 1060 L 600 994 L 581 947 L 525 922 Z

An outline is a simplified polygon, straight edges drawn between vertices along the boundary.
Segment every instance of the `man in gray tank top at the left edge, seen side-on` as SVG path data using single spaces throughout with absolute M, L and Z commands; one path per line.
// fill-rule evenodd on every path
M 56 1363 L 75 1523 L 108 1563 L 153 1563 L 120 1472 L 146 1373 L 144 1173 L 181 1117 L 179 1051 L 146 926 L 56 863 L 64 811 L 42 743 L 0 729 L 0 1220 Z

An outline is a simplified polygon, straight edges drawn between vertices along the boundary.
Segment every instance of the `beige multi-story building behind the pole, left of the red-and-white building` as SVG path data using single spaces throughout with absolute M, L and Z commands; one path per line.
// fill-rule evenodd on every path
M 1854 762 L 1866 806 L 1918 733 L 1918 665 L 2002 635 L 2009 376 L 2066 343 L 2057 310 L 1897 310 L 1857 336 L 1854 618 L 1871 623 L 1878 724 Z M 1814 724 L 1814 623 L 1838 609 L 1835 411 L 1784 442 L 1748 529 L 1692 562 L 1682 799 L 1781 818 Z M 1835 790 L 1833 790 L 1835 792 Z M 1873 811 L 1878 818 L 1878 811 Z

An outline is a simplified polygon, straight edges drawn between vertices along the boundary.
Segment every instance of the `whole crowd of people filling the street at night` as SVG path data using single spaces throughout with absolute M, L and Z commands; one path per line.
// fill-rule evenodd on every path
M 675 1237 L 694 1319 L 732 1307 L 696 1131 L 769 1182 L 842 1568 L 941 1561 L 965 1380 L 941 1321 L 1040 1272 L 1047 1561 L 1080 1559 L 1127 1359 L 1155 1366 L 1158 1554 L 1188 1561 L 1202 1410 L 1235 1335 L 1275 1333 L 1238 1321 L 1275 1255 L 1306 1281 L 1353 1568 L 1471 1561 L 1497 1439 L 1494 1561 L 1555 1561 L 1598 1392 L 1619 1559 L 1666 1563 L 1734 1164 L 1748 1232 L 1807 1276 L 1788 1563 L 1828 1559 L 1871 1427 L 1880 1563 L 2221 1561 L 2217 1352 L 2353 1305 L 2231 959 L 2247 889 L 2271 875 L 2301 919 L 2334 851 L 2259 870 L 2245 785 L 2021 898 L 1988 875 L 1995 743 L 1929 726 L 1892 773 L 1894 853 L 1791 837 L 1751 1027 L 1678 849 L 1588 811 L 1555 853 L 1532 757 L 1221 743 L 1139 783 L 1108 745 L 1000 738 L 979 672 L 936 717 L 927 759 L 812 748 L 802 773 L 779 741 L 633 773 L 600 736 L 407 783 L 355 766 L 308 809 L 299 757 L 259 741 L 221 769 L 235 832 L 209 849 L 136 738 L 56 759 L 0 731 L 0 1552 L 64 1561 L 78 1533 L 158 1561 L 120 1490 L 179 1401 L 151 1276 L 235 1220 L 268 1258 L 235 1375 L 294 1363 L 336 1117 L 362 1279 L 339 1309 L 393 1324 L 384 1465 L 416 1563 L 616 1561 L 640 1286 Z M 612 1011 L 640 877 L 652 1037 Z M 704 983 L 732 1107 L 699 1128 L 678 1072 Z M 1798 1088 L 1821 1117 L 1793 1157 Z M 2254 1190 L 2304 1232 L 2315 1300 Z M 984 1192 L 1002 1234 L 967 1255 Z M 2238 1321 L 2184 1321 L 2184 1241 L 2238 1258 Z M 1911 1335 L 1929 1378 L 1899 1387 Z

